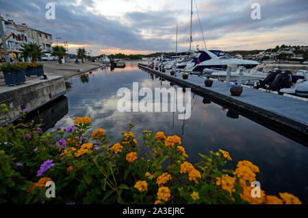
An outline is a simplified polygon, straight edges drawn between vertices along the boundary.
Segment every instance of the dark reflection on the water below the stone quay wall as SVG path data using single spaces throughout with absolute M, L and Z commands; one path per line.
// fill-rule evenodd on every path
M 61 96 L 44 106 L 29 112 L 25 119 L 26 122 L 34 121 L 35 124 L 43 123 L 42 131 L 46 132 L 55 126 L 55 123 L 68 113 L 68 99 Z

